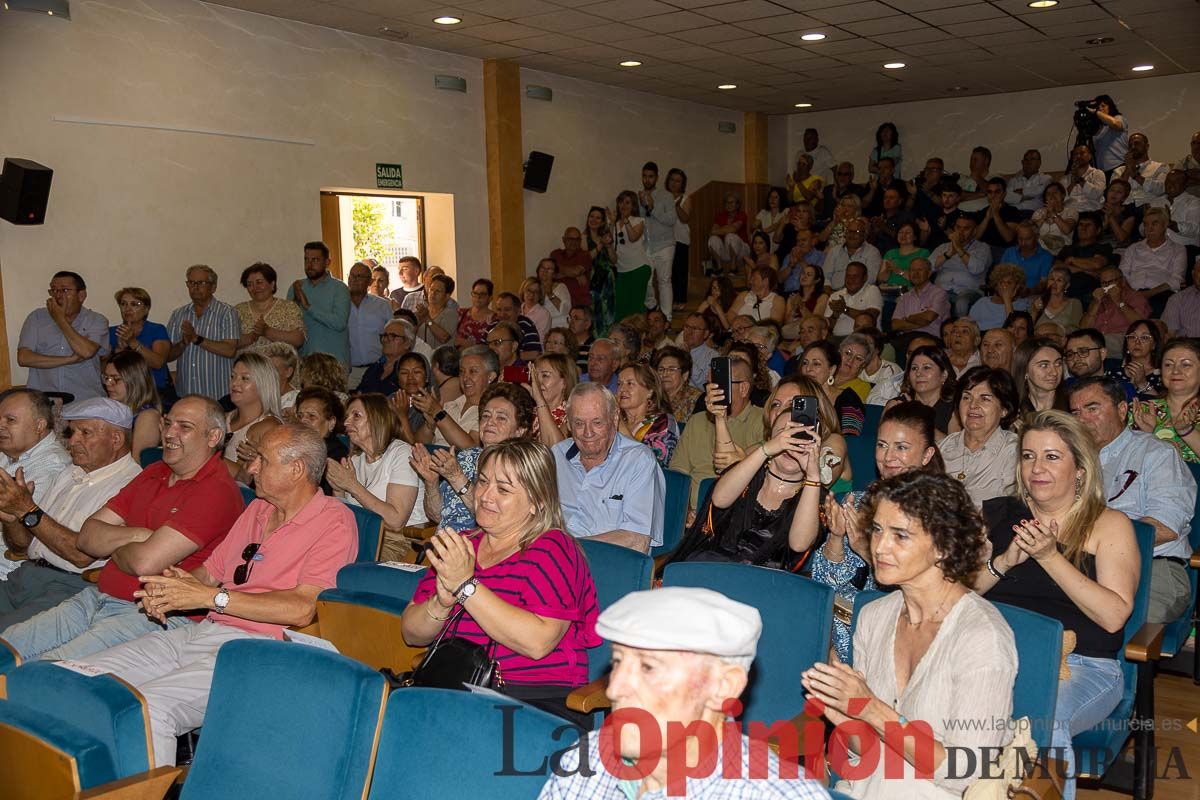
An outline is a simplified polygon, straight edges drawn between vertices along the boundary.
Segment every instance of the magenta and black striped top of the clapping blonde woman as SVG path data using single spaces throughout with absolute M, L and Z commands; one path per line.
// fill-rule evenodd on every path
M 482 535 L 469 541 L 479 553 Z M 582 686 L 588 682 L 588 648 L 600 644 L 596 634 L 600 608 L 587 559 L 574 539 L 560 530 L 547 530 L 499 564 L 486 570 L 476 565 L 475 577 L 517 608 L 571 622 L 550 655 L 536 661 L 497 643 L 496 661 L 505 684 Z M 424 602 L 437 591 L 436 581 L 434 571 L 427 570 L 413 594 L 413 602 Z M 470 612 L 462 615 L 456 636 L 479 644 L 488 640 Z

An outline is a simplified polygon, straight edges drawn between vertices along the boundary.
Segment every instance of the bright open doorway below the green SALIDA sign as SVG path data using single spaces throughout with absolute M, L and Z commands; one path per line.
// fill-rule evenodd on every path
M 400 259 L 457 273 L 454 196 L 434 192 L 323 188 L 322 236 L 329 245 L 330 271 L 344 279 L 355 261 L 374 259 L 400 285 Z

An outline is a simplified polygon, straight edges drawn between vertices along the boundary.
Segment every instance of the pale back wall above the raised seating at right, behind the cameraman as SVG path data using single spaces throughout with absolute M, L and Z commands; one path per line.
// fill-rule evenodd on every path
M 992 172 L 1021 168 L 1028 148 L 1042 150 L 1043 168 L 1062 169 L 1074 142 L 1075 101 L 1108 94 L 1116 100 L 1130 132 L 1150 137 L 1151 157 L 1176 161 L 1188 152 L 1188 140 L 1200 127 L 1200 73 L 1115 80 L 1084 86 L 1060 86 L 1008 95 L 953 97 L 894 106 L 790 114 L 786 158 L 794 162 L 804 128 L 815 127 L 821 143 L 839 160 L 854 164 L 856 180 L 865 180 L 866 158 L 875 146 L 875 130 L 893 121 L 904 148 L 904 176 L 912 178 L 930 156 L 941 156 L 950 172 L 966 173 L 971 149 L 991 149 Z M 773 145 L 774 146 L 774 143 Z M 772 152 L 772 162 L 778 161 Z M 786 173 L 786 170 L 785 170 Z M 784 174 L 772 174 L 782 181 Z

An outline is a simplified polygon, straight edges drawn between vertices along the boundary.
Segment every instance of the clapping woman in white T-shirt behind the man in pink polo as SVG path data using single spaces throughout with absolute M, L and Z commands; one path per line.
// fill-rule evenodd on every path
M 400 438 L 400 421 L 383 395 L 359 395 L 346 408 L 350 457 L 325 462 L 325 477 L 347 503 L 383 517 L 379 560 L 395 561 L 410 548 L 404 528 L 426 523 L 421 481 L 409 464 L 413 449 Z

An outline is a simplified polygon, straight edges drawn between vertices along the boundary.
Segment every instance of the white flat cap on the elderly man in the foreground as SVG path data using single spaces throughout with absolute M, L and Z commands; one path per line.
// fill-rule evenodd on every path
M 632 591 L 596 620 L 596 633 L 642 650 L 686 650 L 754 657 L 762 634 L 758 609 L 712 589 L 665 587 Z

